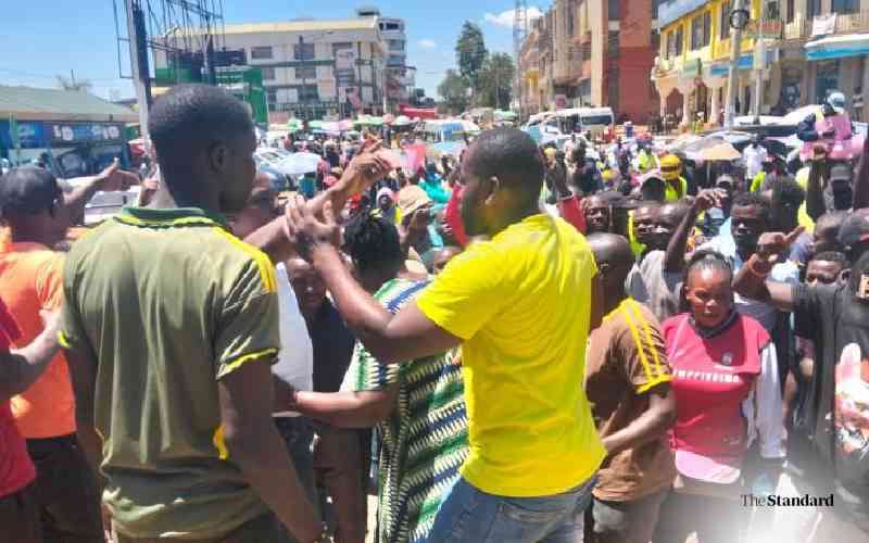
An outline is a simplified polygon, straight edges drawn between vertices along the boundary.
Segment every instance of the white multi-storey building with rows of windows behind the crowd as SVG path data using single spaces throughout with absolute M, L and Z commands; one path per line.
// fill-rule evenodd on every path
M 275 122 L 383 113 L 387 47 L 377 17 L 228 24 L 224 42 L 262 70 Z

